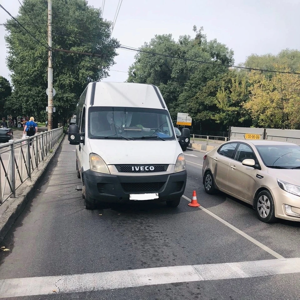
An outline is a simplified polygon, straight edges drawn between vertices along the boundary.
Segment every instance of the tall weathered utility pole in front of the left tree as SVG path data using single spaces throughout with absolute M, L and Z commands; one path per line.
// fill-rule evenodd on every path
M 53 127 L 52 0 L 48 0 L 48 130 Z

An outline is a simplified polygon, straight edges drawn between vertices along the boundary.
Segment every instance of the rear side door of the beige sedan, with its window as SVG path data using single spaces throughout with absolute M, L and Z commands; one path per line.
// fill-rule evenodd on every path
M 216 153 L 212 155 L 212 174 L 218 188 L 226 190 L 229 164 L 235 154 L 237 143 L 227 143 L 222 145 Z

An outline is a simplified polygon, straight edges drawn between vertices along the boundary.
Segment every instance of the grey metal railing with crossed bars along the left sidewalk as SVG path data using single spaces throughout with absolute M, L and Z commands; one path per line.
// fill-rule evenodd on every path
M 63 127 L 0 145 L 0 205 L 38 170 L 63 135 Z

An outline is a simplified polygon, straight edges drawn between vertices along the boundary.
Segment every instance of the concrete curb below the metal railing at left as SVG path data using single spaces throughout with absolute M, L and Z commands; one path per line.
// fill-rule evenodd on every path
M 3 238 L 6 236 L 17 217 L 22 213 L 26 204 L 32 200 L 37 187 L 42 182 L 50 164 L 53 162 L 55 154 L 62 144 L 64 137 L 65 134 L 63 134 L 61 140 L 53 148 L 53 152 L 46 158 L 43 166 L 39 167 L 38 171 L 32 176 L 31 181 L 23 183 L 23 185 L 27 185 L 25 189 L 20 191 L 20 194 L 16 195 L 15 199 L 8 198 L 0 206 L 0 242 L 2 242 Z

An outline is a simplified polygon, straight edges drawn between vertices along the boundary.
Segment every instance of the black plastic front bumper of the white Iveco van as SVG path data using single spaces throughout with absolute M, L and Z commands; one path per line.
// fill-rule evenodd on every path
M 183 195 L 187 172 L 154 176 L 118 176 L 87 170 L 83 172 L 89 196 L 101 202 L 132 202 L 130 194 L 158 193 L 152 202 L 171 201 Z

